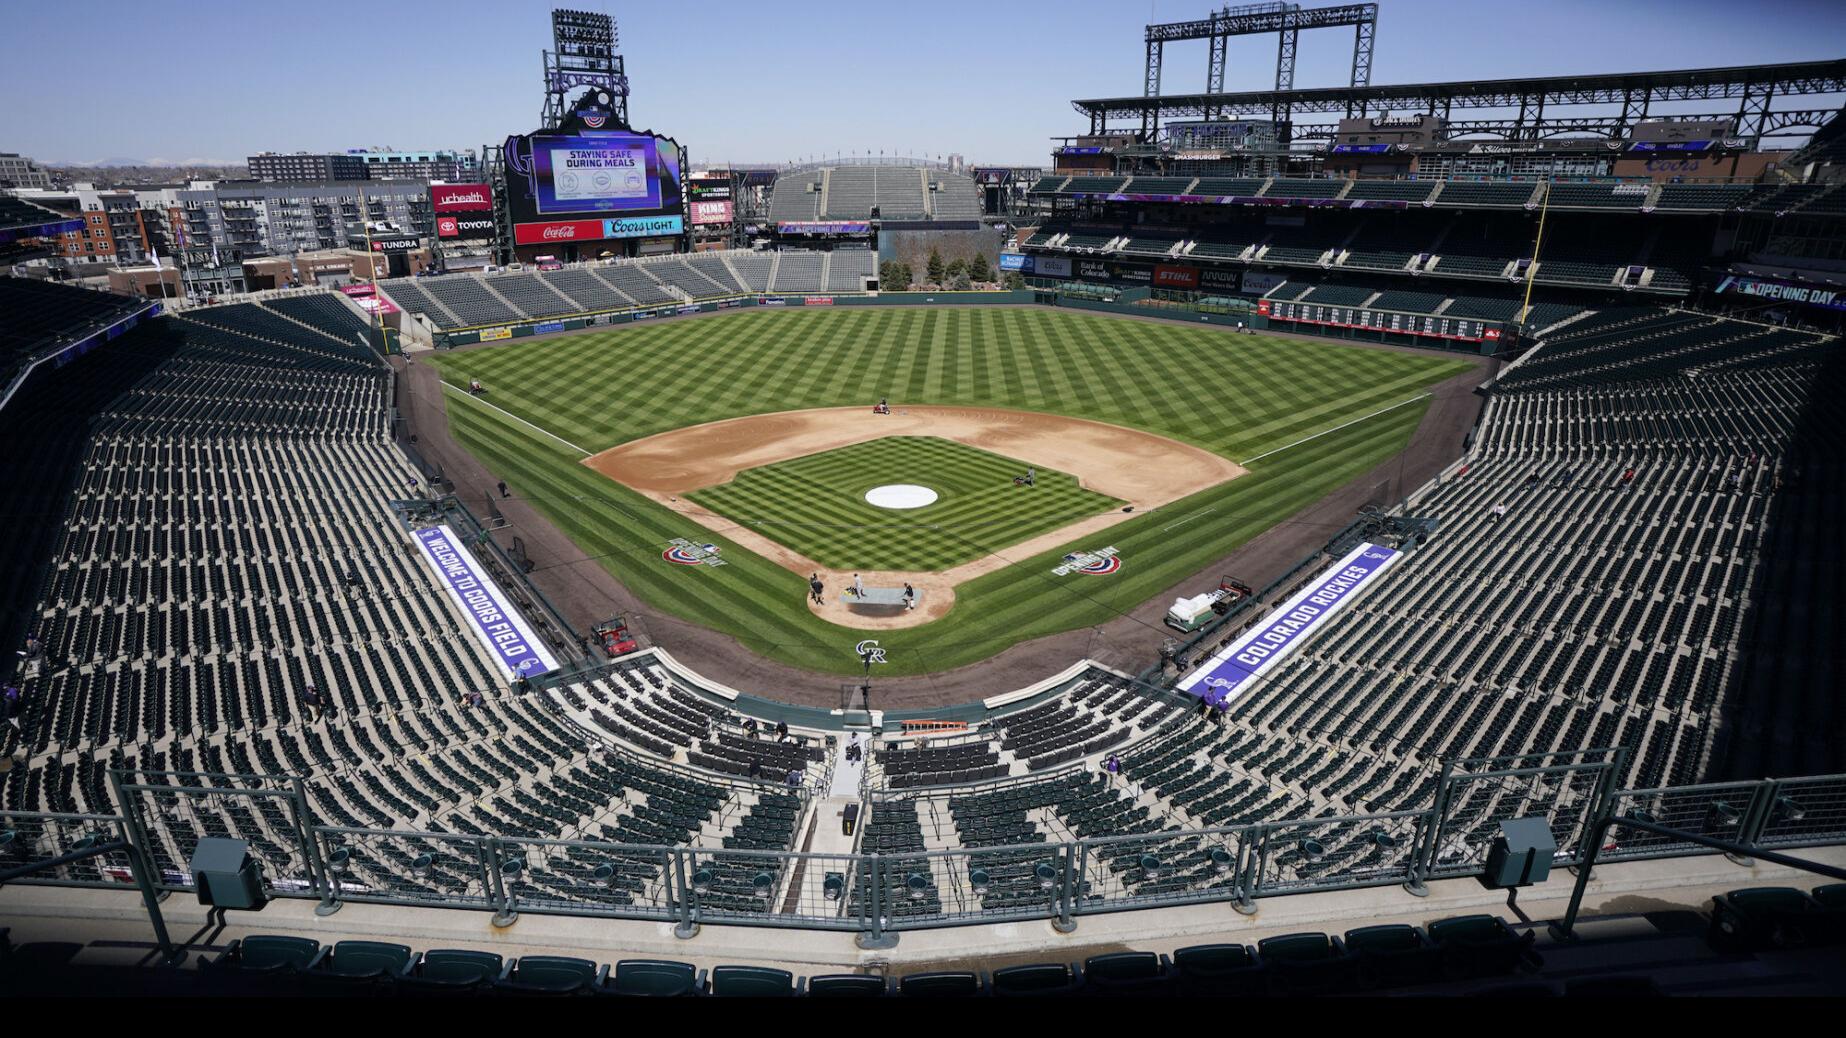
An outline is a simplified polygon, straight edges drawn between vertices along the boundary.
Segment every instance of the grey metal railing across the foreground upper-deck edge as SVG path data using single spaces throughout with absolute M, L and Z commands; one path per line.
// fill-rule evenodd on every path
M 910 929 L 1050 920 L 1170 905 L 1480 875 L 1499 822 L 1543 816 L 1554 866 L 1713 853 L 1778 855 L 1846 844 L 1846 776 L 1613 791 L 1623 752 L 1449 765 L 1416 811 L 899 853 L 797 853 L 318 826 L 294 776 L 113 772 L 111 815 L 0 813 L 0 874 L 13 883 L 190 890 L 198 837 L 249 840 L 271 898 L 493 912 L 831 929 L 868 944 Z M 877 815 L 886 809 L 871 803 Z M 914 809 L 910 802 L 892 809 Z M 1634 818 L 1663 831 L 1612 826 Z M 868 822 L 862 818 L 862 824 Z M 1671 829 L 1671 831 L 1669 831 Z M 1678 835 L 1676 835 L 1678 833 Z M 98 846 L 122 853 L 78 857 Z

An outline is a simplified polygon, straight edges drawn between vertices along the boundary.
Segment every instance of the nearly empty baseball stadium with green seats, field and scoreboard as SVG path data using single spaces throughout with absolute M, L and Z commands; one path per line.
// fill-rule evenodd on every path
M 1032 166 L 574 9 L 469 179 L 0 164 L 0 992 L 1846 994 L 1846 59 L 1189 13 Z

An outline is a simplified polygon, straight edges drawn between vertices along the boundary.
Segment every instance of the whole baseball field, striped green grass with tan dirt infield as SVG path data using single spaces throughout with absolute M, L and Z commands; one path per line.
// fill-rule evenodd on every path
M 862 628 L 914 674 L 1126 613 L 1401 451 L 1468 368 L 1037 307 L 740 312 L 432 360 L 456 440 L 637 597 L 840 674 Z M 868 502 L 882 484 L 936 497 Z M 929 608 L 814 606 L 809 565 L 914 578 Z

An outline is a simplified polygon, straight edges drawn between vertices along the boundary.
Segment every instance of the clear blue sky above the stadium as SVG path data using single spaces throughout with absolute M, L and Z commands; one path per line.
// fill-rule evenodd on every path
M 0 63 L 0 151 L 240 163 L 266 150 L 497 142 L 535 127 L 552 6 L 0 0 L 17 44 Z M 1041 164 L 1052 135 L 1087 129 L 1071 98 L 1141 92 L 1150 18 L 1198 18 L 1217 4 L 570 6 L 617 18 L 635 126 L 676 137 L 698 166 L 855 150 Z M 1274 83 L 1274 39 L 1231 42 L 1228 89 Z M 1296 85 L 1344 85 L 1351 50 L 1348 30 L 1303 33 Z M 1840 0 L 1381 0 L 1372 81 L 1842 55 Z M 1202 41 L 1167 48 L 1167 92 L 1204 89 L 1204 66 Z

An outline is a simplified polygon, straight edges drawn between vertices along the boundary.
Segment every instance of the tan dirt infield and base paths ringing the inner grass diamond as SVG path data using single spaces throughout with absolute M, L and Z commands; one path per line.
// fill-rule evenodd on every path
M 851 584 L 853 571 L 823 567 L 755 530 L 740 528 L 735 519 L 700 508 L 690 501 L 679 501 L 683 493 L 729 482 L 744 469 L 886 436 L 938 436 L 1006 454 L 1023 465 L 1058 469 L 1076 477 L 1084 489 L 1126 501 L 1133 512 L 1117 508 L 1091 515 L 941 573 L 860 571 L 866 584 L 897 587 L 912 584 L 927 591 L 916 610 L 877 617 L 847 610 L 833 593 Z M 893 406 L 892 414 L 871 414 L 869 404 L 759 414 L 690 425 L 611 447 L 585 458 L 583 464 L 687 519 L 724 534 L 783 569 L 801 576 L 820 574 L 829 595 L 820 604 L 810 600 L 809 608 L 840 626 L 866 630 L 927 624 L 954 606 L 958 584 L 1004 569 L 1015 560 L 1087 537 L 1133 519 L 1135 513 L 1233 480 L 1246 471 L 1237 462 L 1178 440 L 1082 417 L 969 406 Z M 923 475 L 892 473 L 893 478 Z M 1021 475 L 1025 473 L 1021 471 Z M 927 513 L 919 513 L 921 517 Z

